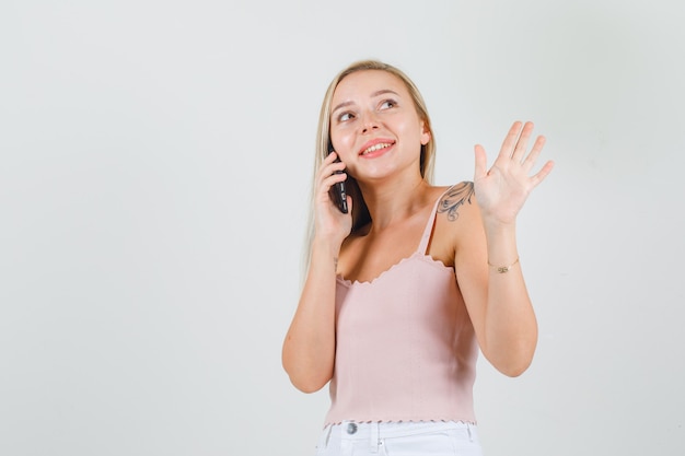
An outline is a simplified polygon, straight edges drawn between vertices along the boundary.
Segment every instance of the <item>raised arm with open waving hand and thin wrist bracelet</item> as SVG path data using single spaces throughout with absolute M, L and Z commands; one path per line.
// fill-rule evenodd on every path
M 537 321 L 521 264 L 518 261 L 515 218 L 531 190 L 552 171 L 553 163 L 529 177 L 544 138 L 526 156 L 533 124 L 515 122 L 494 166 L 476 147 L 474 179 L 477 203 L 465 219 L 455 253 L 455 270 L 484 355 L 506 375 L 522 374 L 537 344 Z M 504 267 L 504 270 L 500 270 Z

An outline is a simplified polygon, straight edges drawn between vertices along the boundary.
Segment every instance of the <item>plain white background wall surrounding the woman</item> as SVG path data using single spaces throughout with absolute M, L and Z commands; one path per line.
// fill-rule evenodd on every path
M 0 4 L 0 454 L 313 455 L 280 365 L 320 103 L 405 70 L 471 179 L 515 119 L 541 339 L 483 360 L 487 456 L 685 454 L 685 13 L 672 1 Z

